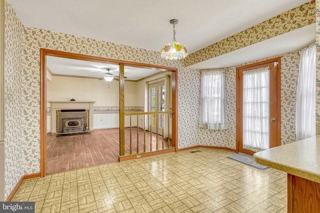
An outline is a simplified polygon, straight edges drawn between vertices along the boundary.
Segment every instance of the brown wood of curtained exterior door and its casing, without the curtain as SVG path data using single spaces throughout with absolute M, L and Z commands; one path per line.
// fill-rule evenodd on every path
M 277 66 L 274 66 L 277 62 Z M 253 155 L 254 152 L 242 148 L 242 99 L 243 99 L 243 71 L 258 69 L 262 67 L 270 68 L 270 118 L 275 118 L 275 122 L 270 123 L 269 143 L 270 148 L 280 145 L 280 58 L 274 58 L 266 61 L 261 61 L 254 64 L 249 64 L 236 68 L 236 152 L 241 152 L 248 155 Z

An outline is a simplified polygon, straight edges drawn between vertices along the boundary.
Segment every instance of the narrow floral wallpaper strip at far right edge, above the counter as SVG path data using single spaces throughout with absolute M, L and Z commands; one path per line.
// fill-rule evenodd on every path
M 316 0 L 316 134 L 320 135 L 320 0 Z

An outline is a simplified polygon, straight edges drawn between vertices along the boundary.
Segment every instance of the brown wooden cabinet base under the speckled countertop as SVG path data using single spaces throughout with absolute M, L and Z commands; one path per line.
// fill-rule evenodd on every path
M 318 213 L 320 211 L 320 183 L 288 174 L 287 184 L 288 213 Z

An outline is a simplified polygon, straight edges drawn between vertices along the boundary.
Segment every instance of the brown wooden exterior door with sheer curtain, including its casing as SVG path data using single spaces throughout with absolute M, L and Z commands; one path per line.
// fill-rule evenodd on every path
M 248 155 L 280 145 L 280 58 L 236 68 L 236 151 Z

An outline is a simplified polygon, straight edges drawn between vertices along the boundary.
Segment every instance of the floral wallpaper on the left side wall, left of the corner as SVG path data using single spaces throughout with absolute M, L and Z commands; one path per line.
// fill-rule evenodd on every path
M 22 177 L 22 23 L 11 5 L 4 2 L 4 198 Z M 2 171 L 1 171 L 2 172 Z

